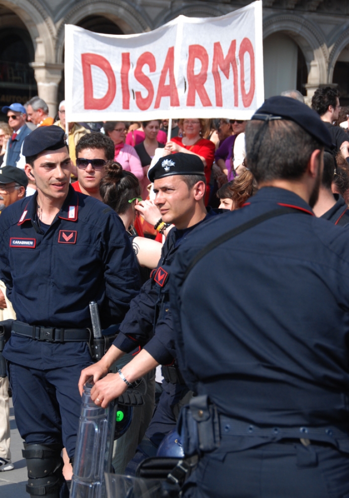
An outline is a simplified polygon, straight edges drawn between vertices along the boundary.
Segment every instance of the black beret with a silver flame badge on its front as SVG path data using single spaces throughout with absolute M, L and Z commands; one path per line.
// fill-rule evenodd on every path
M 162 157 L 148 170 L 148 178 L 152 183 L 173 175 L 204 175 L 203 162 L 197 155 L 177 152 Z

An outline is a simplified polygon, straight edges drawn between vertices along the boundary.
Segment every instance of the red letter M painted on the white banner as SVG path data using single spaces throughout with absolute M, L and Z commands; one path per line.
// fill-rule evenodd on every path
M 212 74 L 214 78 L 214 88 L 216 92 L 216 106 L 223 107 L 222 98 L 222 83 L 221 77 L 218 72 L 218 68 L 222 71 L 224 76 L 229 79 L 230 65 L 233 69 L 233 79 L 234 79 L 234 106 L 239 105 L 239 89 L 238 89 L 238 66 L 235 59 L 236 50 L 236 40 L 232 40 L 227 56 L 224 57 L 223 50 L 219 41 L 213 45 L 213 63 L 212 63 Z

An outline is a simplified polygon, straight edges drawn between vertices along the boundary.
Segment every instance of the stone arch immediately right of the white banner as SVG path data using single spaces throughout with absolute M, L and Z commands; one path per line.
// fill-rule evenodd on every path
M 311 97 L 319 84 L 328 82 L 329 53 L 323 33 L 298 15 L 272 15 L 263 20 L 263 38 L 277 32 L 287 34 L 301 48 L 308 68 L 308 97 Z

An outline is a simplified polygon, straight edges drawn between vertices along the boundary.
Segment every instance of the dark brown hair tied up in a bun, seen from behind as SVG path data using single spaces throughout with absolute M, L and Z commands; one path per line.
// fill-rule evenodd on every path
M 99 184 L 99 193 L 104 204 L 122 215 L 130 207 L 128 201 L 141 197 L 141 192 L 139 180 L 133 173 L 122 169 L 118 162 L 106 165 L 104 178 Z

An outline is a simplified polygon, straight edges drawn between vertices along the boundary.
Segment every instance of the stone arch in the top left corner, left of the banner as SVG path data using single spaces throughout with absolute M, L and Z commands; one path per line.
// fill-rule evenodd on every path
M 27 28 L 35 51 L 35 62 L 54 63 L 56 28 L 49 13 L 36 0 L 17 0 L 15 3 L 0 0 L 0 5 L 10 9 Z

